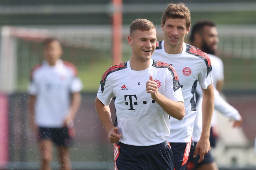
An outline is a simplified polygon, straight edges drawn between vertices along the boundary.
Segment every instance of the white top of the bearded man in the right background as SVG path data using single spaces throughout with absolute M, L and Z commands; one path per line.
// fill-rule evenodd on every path
M 224 80 L 224 68 L 221 59 L 215 55 L 209 54 L 212 63 L 212 78 L 213 78 L 213 86 L 214 86 L 214 109 L 226 115 L 230 119 L 240 120 L 241 116 L 238 111 L 231 105 L 229 105 L 221 96 L 218 90 L 216 89 L 217 82 Z M 198 93 L 198 101 L 196 105 L 197 115 L 194 123 L 193 130 L 193 140 L 198 142 L 202 132 L 202 101 L 203 101 L 203 92 L 200 87 L 196 88 L 196 92 Z M 216 112 L 213 112 L 212 115 L 212 123 L 211 126 L 215 126 L 217 124 Z

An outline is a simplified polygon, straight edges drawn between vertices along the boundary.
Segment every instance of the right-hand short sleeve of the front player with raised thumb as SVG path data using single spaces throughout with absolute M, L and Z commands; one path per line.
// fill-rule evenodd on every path
M 176 71 L 167 70 L 165 74 L 165 92 L 168 99 L 184 102 L 179 78 Z

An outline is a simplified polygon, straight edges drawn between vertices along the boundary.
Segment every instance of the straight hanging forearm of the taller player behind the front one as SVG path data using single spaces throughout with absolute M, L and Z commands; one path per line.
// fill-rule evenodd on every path
M 214 92 L 213 85 L 209 85 L 206 90 L 203 90 L 203 102 L 202 102 L 202 116 L 203 116 L 203 129 L 201 138 L 209 139 L 212 113 L 214 109 Z

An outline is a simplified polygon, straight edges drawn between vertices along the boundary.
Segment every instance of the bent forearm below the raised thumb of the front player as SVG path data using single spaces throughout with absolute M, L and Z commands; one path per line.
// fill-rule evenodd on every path
M 166 98 L 164 95 L 159 93 L 159 96 L 156 98 L 156 103 L 164 109 L 164 111 L 176 118 L 178 120 L 182 120 L 185 115 L 185 107 L 183 102 L 181 101 L 174 101 Z

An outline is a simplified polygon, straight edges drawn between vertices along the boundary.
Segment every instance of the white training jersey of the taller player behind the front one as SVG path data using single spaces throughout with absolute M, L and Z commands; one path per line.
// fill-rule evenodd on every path
M 167 141 L 188 143 L 191 141 L 196 117 L 195 91 L 197 81 L 204 89 L 212 84 L 211 61 L 206 53 L 186 43 L 183 43 L 180 54 L 168 54 L 164 51 L 164 41 L 157 41 L 156 51 L 152 59 L 173 66 L 179 75 L 184 98 L 186 114 L 181 121 L 171 118 L 171 132 Z

